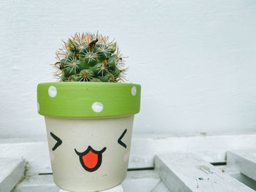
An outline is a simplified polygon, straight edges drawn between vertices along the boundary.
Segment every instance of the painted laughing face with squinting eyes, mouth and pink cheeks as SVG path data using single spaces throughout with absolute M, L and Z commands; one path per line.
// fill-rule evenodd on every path
M 127 162 L 129 159 L 129 150 L 127 150 L 127 144 L 123 140 L 126 134 L 127 134 L 127 128 L 124 129 L 124 131 L 120 134 L 120 136 L 118 137 L 118 139 L 116 139 L 116 141 L 115 140 L 113 141 L 113 142 L 116 142 L 115 143 L 115 145 L 117 145 L 116 147 L 119 146 L 118 147 L 119 150 L 121 147 L 123 148 L 124 151 L 126 151 L 126 153 L 123 156 L 124 162 Z M 64 142 L 56 134 L 53 134 L 53 132 L 50 132 L 50 136 L 56 141 L 55 145 L 53 145 L 51 150 L 52 152 L 57 151 L 58 148 L 61 147 L 62 144 L 64 144 Z M 108 155 L 107 157 L 105 157 L 105 153 L 108 153 L 108 149 L 110 147 L 105 146 L 104 143 L 102 142 L 103 144 L 102 147 L 99 148 L 99 150 L 97 150 L 98 147 L 94 148 L 93 142 L 95 142 L 95 140 L 92 140 L 89 145 L 82 147 L 83 149 L 86 149 L 86 150 L 78 150 L 75 146 L 73 150 L 73 153 L 75 153 L 77 158 L 77 163 L 80 164 L 80 168 L 84 169 L 86 172 L 97 171 L 102 166 L 102 164 L 105 164 L 105 158 L 108 158 Z M 50 152 L 51 161 L 54 160 L 54 155 L 53 155 L 54 152 L 53 153 L 52 152 Z

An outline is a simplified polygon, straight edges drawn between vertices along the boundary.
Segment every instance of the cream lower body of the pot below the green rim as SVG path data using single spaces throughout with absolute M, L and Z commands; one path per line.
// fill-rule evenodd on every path
M 67 191 L 102 191 L 127 174 L 134 115 L 45 117 L 54 183 Z

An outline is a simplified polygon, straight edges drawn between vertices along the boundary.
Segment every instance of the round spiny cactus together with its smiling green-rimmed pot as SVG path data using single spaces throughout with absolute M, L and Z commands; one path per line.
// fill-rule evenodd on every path
M 121 82 L 124 59 L 116 42 L 99 34 L 75 34 L 56 58 L 60 82 L 37 86 L 53 180 L 66 191 L 113 188 L 127 174 L 140 85 Z

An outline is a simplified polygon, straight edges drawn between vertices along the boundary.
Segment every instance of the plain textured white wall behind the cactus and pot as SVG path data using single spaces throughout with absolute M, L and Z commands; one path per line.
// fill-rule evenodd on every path
M 256 130 L 256 1 L 0 1 L 0 137 L 42 137 L 39 82 L 76 31 L 115 37 L 142 85 L 137 134 Z

